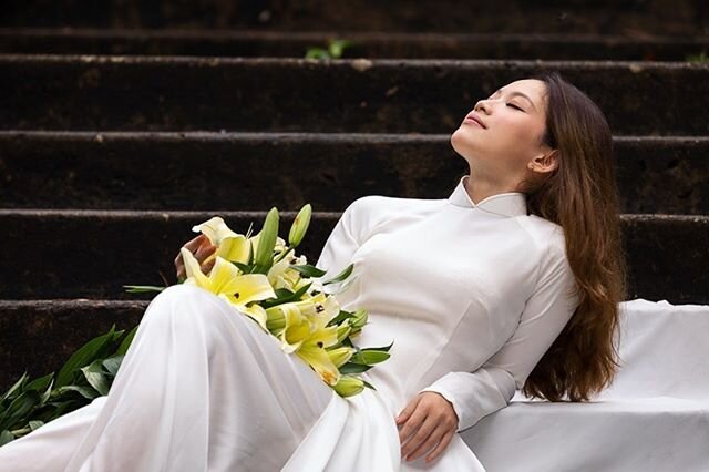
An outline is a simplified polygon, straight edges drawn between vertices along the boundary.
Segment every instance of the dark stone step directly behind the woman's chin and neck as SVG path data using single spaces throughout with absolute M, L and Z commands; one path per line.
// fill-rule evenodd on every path
M 621 212 L 709 214 L 709 137 L 614 148 Z M 439 198 L 464 173 L 450 135 L 0 132 L 6 208 L 338 212 L 371 194 Z

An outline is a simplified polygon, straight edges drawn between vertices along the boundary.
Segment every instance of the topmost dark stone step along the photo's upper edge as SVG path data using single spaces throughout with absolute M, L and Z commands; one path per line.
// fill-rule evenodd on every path
M 445 31 L 707 33 L 705 0 L 543 0 L 399 2 L 111 0 L 86 4 L 71 0 L 8 0 L 0 25 L 73 28 L 260 28 L 281 31 Z

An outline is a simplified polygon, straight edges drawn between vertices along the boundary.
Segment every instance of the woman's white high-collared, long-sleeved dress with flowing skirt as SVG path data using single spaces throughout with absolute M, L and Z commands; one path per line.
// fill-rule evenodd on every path
M 0 471 L 484 471 L 460 434 L 436 460 L 401 460 L 394 418 L 421 391 L 445 397 L 458 432 L 507 406 L 577 298 L 561 226 L 522 193 L 475 204 L 369 195 L 318 259 L 354 264 L 338 295 L 364 307 L 360 347 L 391 358 L 341 398 L 218 297 L 173 286 L 148 306 L 107 397 L 0 448 Z

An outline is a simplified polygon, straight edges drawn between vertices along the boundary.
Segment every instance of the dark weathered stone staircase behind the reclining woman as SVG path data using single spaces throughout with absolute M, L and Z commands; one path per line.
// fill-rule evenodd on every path
M 687 61 L 709 51 L 703 1 L 10 3 L 0 390 L 136 325 L 150 297 L 122 285 L 174 283 L 214 214 L 246 232 L 277 206 L 289 227 L 311 203 L 315 261 L 359 196 L 446 197 L 466 172 L 449 143 L 461 119 L 540 69 L 614 131 L 630 298 L 709 304 L 709 63 Z M 353 41 L 343 59 L 301 59 L 328 31 Z

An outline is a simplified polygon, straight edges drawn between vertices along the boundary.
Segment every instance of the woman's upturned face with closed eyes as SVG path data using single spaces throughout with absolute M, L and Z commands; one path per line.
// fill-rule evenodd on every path
M 471 120 L 476 116 L 482 126 Z M 451 145 L 470 164 L 472 173 L 514 185 L 532 161 L 548 154 L 540 143 L 546 121 L 546 84 L 524 79 L 502 86 L 481 100 L 451 135 Z

